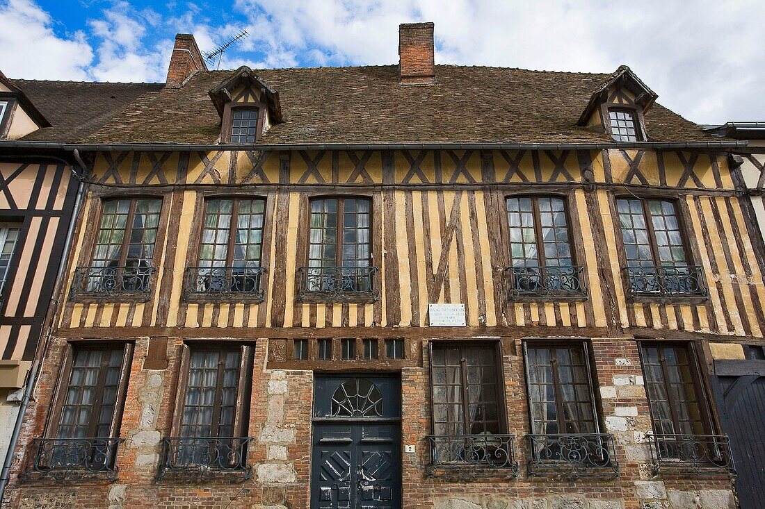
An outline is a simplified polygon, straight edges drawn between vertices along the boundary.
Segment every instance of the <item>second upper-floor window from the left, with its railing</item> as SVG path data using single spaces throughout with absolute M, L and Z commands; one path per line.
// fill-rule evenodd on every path
M 263 297 L 260 279 L 265 200 L 208 199 L 199 267 L 187 269 L 187 297 Z

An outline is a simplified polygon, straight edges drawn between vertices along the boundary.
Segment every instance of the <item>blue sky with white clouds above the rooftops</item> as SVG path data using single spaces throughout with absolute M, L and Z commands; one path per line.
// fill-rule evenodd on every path
M 163 82 L 175 34 L 209 50 L 242 29 L 221 68 L 390 64 L 411 21 L 435 22 L 437 63 L 627 64 L 694 122 L 765 120 L 761 0 L 0 0 L 0 70 Z

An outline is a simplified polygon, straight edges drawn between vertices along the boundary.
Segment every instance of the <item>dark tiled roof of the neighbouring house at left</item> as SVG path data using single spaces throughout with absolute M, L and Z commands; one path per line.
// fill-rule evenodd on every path
M 82 141 L 125 106 L 145 93 L 157 92 L 162 83 L 90 83 L 14 79 L 51 126 L 24 137 L 25 141 Z

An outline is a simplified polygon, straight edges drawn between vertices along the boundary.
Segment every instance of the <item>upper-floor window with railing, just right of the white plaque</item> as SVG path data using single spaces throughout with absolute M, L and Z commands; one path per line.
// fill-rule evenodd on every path
M 564 200 L 519 196 L 508 198 L 506 206 L 513 296 L 584 293 L 583 269 L 574 265 Z

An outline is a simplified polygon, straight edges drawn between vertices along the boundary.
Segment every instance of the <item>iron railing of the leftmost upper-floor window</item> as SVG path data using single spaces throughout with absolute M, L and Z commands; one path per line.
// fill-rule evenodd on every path
M 155 267 L 77 267 L 70 298 L 110 299 L 151 296 Z

